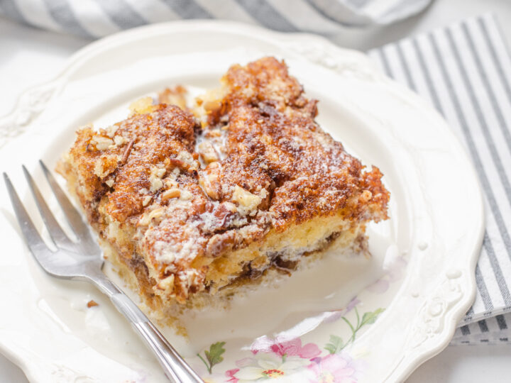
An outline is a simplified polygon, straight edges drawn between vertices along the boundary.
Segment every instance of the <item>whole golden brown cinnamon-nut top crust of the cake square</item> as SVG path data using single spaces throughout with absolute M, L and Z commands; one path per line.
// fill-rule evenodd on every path
M 131 236 L 117 250 L 134 268 L 145 262 L 138 278 L 164 300 L 185 302 L 206 287 L 209 265 L 270 231 L 321 216 L 352 228 L 387 218 L 382 174 L 319 128 L 317 101 L 284 62 L 233 65 L 222 82 L 195 118 L 142 103 L 113 127 L 78 131 L 64 171 L 106 240 L 116 243 L 113 226 Z

